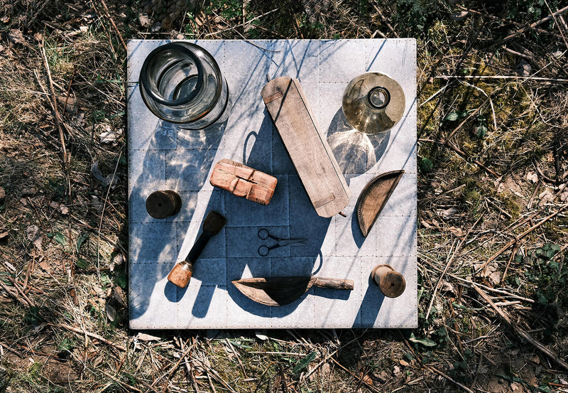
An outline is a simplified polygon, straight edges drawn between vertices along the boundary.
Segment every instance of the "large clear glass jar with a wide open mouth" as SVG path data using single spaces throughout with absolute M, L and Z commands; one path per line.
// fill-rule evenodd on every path
M 184 129 L 203 129 L 219 121 L 229 100 L 215 59 L 186 42 L 152 50 L 140 71 L 140 94 L 153 114 Z

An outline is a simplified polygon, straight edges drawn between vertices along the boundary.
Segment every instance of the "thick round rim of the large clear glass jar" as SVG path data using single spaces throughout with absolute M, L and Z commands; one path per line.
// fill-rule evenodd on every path
M 150 88 L 150 80 L 148 78 L 148 67 L 150 66 L 151 62 L 155 60 L 155 58 L 162 52 L 166 50 L 180 50 L 185 55 L 188 55 L 190 59 L 195 63 L 195 67 L 197 68 L 197 83 L 193 90 L 190 92 L 189 95 L 185 95 L 179 99 L 165 99 L 161 95 L 156 94 L 154 90 Z M 165 45 L 158 46 L 151 51 L 151 53 L 146 57 L 142 68 L 140 70 L 140 80 L 142 87 L 146 94 L 148 94 L 153 101 L 158 102 L 159 104 L 168 105 L 168 106 L 179 106 L 183 104 L 187 104 L 190 102 L 196 95 L 199 93 L 201 86 L 203 85 L 203 65 L 201 64 L 201 60 L 193 53 L 187 46 L 181 45 L 179 43 L 167 43 Z

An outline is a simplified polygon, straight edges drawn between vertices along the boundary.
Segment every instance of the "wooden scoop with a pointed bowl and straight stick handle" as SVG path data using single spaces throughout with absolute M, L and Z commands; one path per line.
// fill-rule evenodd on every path
M 352 280 L 322 277 L 266 277 L 231 281 L 244 296 L 266 306 L 284 306 L 300 298 L 312 286 L 329 289 L 353 289 Z

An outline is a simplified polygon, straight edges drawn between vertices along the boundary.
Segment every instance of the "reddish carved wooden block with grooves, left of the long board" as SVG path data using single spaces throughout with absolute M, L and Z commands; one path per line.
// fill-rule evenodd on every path
M 270 203 L 278 179 L 227 158 L 215 164 L 209 183 L 261 205 Z

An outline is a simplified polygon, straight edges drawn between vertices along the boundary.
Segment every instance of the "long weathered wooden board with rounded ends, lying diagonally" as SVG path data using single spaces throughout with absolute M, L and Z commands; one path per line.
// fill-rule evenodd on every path
M 300 82 L 276 77 L 261 95 L 317 214 L 332 217 L 341 212 L 349 204 L 351 190 L 318 131 Z

